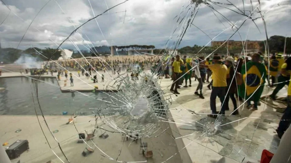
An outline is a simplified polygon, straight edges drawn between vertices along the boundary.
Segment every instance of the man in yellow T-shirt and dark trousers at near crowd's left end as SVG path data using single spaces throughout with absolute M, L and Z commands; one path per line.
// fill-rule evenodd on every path
M 179 55 L 176 55 L 176 60 L 173 62 L 172 65 L 172 74 L 173 74 L 173 83 L 171 86 L 170 91 L 175 94 L 180 94 L 177 89 L 179 88 L 179 78 L 180 78 L 180 72 L 181 72 L 181 65 L 183 64 L 183 61 L 180 59 Z M 175 89 L 174 89 L 175 87 Z

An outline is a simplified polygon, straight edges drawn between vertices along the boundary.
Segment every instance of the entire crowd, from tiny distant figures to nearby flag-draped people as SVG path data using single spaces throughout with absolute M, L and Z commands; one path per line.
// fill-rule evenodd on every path
M 137 72 L 134 70 L 143 70 L 146 66 L 151 67 L 152 72 L 157 71 L 159 78 L 165 76 L 173 80 L 170 91 L 176 95 L 180 94 L 178 90 L 182 87 L 184 81 L 184 88 L 192 87 L 192 80 L 198 81 L 198 85 L 195 95 L 204 99 L 203 85 L 207 83 L 207 88 L 211 90 L 210 95 L 210 109 L 212 114 L 209 117 L 216 118 L 219 114 L 225 115 L 226 110 L 229 108 L 229 99 L 233 104 L 232 115 L 238 115 L 237 100 L 246 101 L 246 107 L 248 109 L 257 110 L 260 105 L 260 97 L 263 93 L 265 85 L 269 87 L 276 87 L 270 98 L 276 100 L 276 94 L 285 86 L 288 85 L 288 107 L 284 112 L 282 120 L 280 121 L 277 129 L 278 136 L 281 137 L 289 126 L 289 121 L 286 121 L 291 117 L 291 86 L 289 85 L 290 73 L 291 73 L 291 57 L 283 58 L 280 54 L 274 54 L 270 57 L 264 57 L 262 53 L 255 53 L 252 56 L 220 56 L 213 54 L 212 57 L 195 56 L 187 57 L 180 55 L 172 57 L 168 62 L 167 59 L 161 61 L 161 57 L 147 56 L 130 58 L 117 58 L 108 59 L 104 58 L 103 61 L 96 59 L 77 59 L 72 61 L 57 61 L 59 65 L 66 69 L 73 69 L 86 76 L 87 79 L 98 82 L 96 71 L 107 71 L 118 73 L 123 70 L 131 72 L 132 80 L 138 79 Z M 113 63 L 111 63 L 113 61 Z M 81 67 L 82 66 L 82 67 Z M 45 73 L 53 75 L 57 73 L 58 78 L 65 76 L 68 79 L 70 75 L 71 86 L 73 86 L 72 74 L 67 70 L 60 69 L 54 62 L 49 62 L 49 65 L 44 69 L 31 69 L 31 73 L 39 75 L 45 70 Z M 269 71 L 268 71 L 269 70 Z M 25 70 L 28 73 L 28 70 Z M 43 72 L 44 73 L 44 72 Z M 104 82 L 104 75 L 101 76 L 102 82 Z M 210 81 L 211 79 L 211 81 Z M 265 84 L 267 82 L 267 84 Z M 216 97 L 219 97 L 221 102 L 221 109 L 216 109 Z M 253 104 L 251 103 L 253 102 Z

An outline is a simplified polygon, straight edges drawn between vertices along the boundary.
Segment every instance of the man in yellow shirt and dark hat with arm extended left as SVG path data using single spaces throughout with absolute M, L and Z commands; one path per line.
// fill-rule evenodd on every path
M 229 70 L 225 64 L 222 64 L 222 59 L 220 56 L 213 56 L 212 62 L 214 64 L 211 65 L 202 65 L 206 68 L 209 68 L 212 71 L 212 91 L 210 95 L 210 109 L 212 110 L 212 114 L 209 114 L 208 117 L 217 118 L 216 111 L 216 97 L 219 97 L 221 104 L 221 110 L 219 114 L 225 114 L 226 104 L 224 102 L 226 95 L 226 78 L 229 76 Z

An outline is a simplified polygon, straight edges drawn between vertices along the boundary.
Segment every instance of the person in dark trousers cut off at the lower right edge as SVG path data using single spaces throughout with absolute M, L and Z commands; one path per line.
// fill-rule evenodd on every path
M 289 76 L 291 76 L 290 73 L 289 73 Z M 289 85 L 288 85 L 287 108 L 285 109 L 285 112 L 279 122 L 278 128 L 276 129 L 276 132 L 280 139 L 289 127 L 290 117 L 291 117 L 291 82 L 289 82 Z

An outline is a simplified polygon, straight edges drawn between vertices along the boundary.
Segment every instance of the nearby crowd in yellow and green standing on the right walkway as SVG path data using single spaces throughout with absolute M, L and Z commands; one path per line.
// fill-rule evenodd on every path
M 276 130 L 279 138 L 289 127 L 290 121 L 288 119 L 291 117 L 291 84 L 289 84 L 291 57 L 284 59 L 281 54 L 273 54 L 269 58 L 264 57 L 260 52 L 246 57 L 224 57 L 214 54 L 212 58 L 206 59 L 204 56 L 196 58 L 183 56 L 181 59 L 180 55 L 176 55 L 167 66 L 169 68 L 165 67 L 165 74 L 171 76 L 171 80 L 173 80 L 170 91 L 176 95 L 180 94 L 178 90 L 183 81 L 185 81 L 184 87 L 187 88 L 192 86 L 191 78 L 195 78 L 199 84 L 194 94 L 204 99 L 203 84 L 209 83 L 207 88 L 212 90 L 210 95 L 212 114 L 208 116 L 212 118 L 217 118 L 219 114 L 225 115 L 225 111 L 230 109 L 229 99 L 233 103 L 232 115 L 237 115 L 239 114 L 237 100 L 246 101 L 248 109 L 257 110 L 265 85 L 276 86 L 272 94 L 269 95 L 273 100 L 276 100 L 276 94 L 285 85 L 288 85 L 288 106 Z M 210 77 L 212 81 L 209 81 Z M 187 85 L 188 81 L 189 85 Z M 219 97 L 221 102 L 220 111 L 216 110 L 216 97 Z

